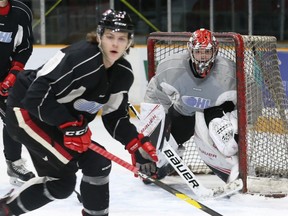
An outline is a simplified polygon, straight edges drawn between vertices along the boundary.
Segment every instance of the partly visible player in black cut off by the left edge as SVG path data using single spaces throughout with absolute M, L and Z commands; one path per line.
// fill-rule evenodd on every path
M 6 130 L 8 90 L 16 75 L 23 70 L 33 49 L 31 10 L 17 0 L 0 1 L 0 117 L 3 120 L 3 145 L 10 183 L 22 184 L 35 175 L 26 169 L 21 158 L 22 144 L 14 141 Z

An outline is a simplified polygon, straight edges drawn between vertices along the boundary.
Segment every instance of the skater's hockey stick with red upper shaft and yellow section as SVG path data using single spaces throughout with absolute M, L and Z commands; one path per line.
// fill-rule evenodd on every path
M 163 190 L 166 190 L 167 192 L 171 193 L 172 195 L 176 196 L 177 198 L 189 203 L 190 205 L 198 208 L 199 210 L 202 210 L 204 212 L 206 212 L 207 214 L 209 215 L 212 215 L 212 216 L 221 216 L 222 214 L 214 211 L 213 209 L 205 206 L 204 204 L 198 202 L 197 200 L 189 197 L 188 195 L 170 187 L 169 185 L 157 180 L 157 179 L 154 179 L 153 177 L 149 177 L 147 175 L 145 175 L 144 173 L 140 172 L 139 169 L 135 166 L 133 166 L 132 164 L 122 160 L 121 158 L 117 157 L 116 155 L 108 152 L 107 150 L 97 146 L 96 144 L 94 143 L 91 143 L 90 146 L 89 146 L 89 149 L 91 149 L 92 151 L 102 155 L 103 157 L 119 164 L 120 166 L 126 168 L 127 170 L 133 172 L 135 175 L 138 175 L 140 176 L 141 178 L 143 179 L 146 179 L 152 183 L 154 183 L 155 185 L 157 185 L 158 187 L 162 188 Z

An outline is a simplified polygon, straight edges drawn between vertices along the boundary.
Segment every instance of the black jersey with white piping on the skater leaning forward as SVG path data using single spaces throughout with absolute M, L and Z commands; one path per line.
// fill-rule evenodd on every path
M 102 109 L 106 129 L 126 145 L 138 135 L 128 115 L 133 80 L 126 59 L 105 69 L 98 45 L 80 41 L 60 50 L 37 71 L 20 73 L 7 104 L 52 126 L 75 121 L 80 114 L 90 122 Z

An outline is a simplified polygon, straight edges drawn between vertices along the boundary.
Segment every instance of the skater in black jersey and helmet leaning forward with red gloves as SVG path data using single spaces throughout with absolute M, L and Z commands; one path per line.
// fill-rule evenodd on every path
M 8 98 L 7 124 L 29 149 L 39 178 L 2 199 L 0 215 L 21 215 L 71 195 L 78 169 L 85 216 L 109 213 L 111 161 L 90 150 L 88 123 L 102 110 L 107 131 L 131 153 L 134 163 L 157 161 L 149 137 L 138 134 L 128 114 L 134 77 L 123 57 L 134 26 L 123 11 L 108 10 L 96 34 L 60 50 L 35 71 L 19 74 Z M 95 131 L 97 136 L 97 131 Z

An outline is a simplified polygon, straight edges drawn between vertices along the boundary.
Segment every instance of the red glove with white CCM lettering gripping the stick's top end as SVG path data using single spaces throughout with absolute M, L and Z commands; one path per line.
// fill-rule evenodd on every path
M 79 153 L 88 150 L 91 143 L 91 131 L 88 127 L 87 121 L 81 115 L 79 121 L 66 122 L 59 126 L 60 130 L 64 134 L 64 145 L 77 151 Z

